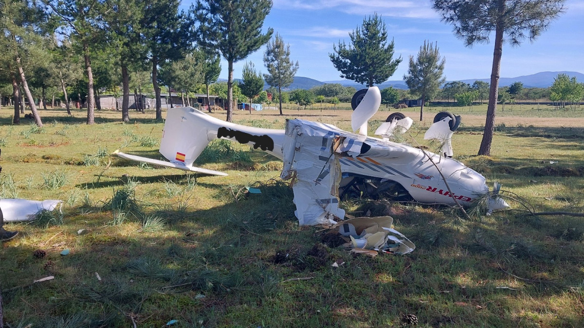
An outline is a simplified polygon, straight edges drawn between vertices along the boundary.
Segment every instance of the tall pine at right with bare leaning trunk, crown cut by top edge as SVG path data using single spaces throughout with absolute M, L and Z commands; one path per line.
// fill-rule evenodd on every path
M 524 39 L 533 41 L 550 26 L 552 20 L 564 12 L 564 2 L 565 0 L 433 0 L 433 8 L 442 15 L 444 22 L 454 26 L 454 35 L 463 39 L 465 46 L 488 43 L 489 36 L 495 32 L 489 105 L 478 155 L 491 154 L 503 40 L 506 39 L 515 46 Z

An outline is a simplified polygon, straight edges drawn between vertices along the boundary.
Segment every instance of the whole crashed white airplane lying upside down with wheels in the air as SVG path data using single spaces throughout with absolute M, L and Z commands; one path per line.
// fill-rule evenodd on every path
M 338 197 L 351 188 L 377 197 L 446 205 L 455 205 L 456 201 L 470 205 L 475 198 L 489 192 L 484 176 L 451 158 L 450 138 L 460 125 L 460 116 L 441 112 L 434 117 L 425 138 L 443 143 L 443 154 L 438 155 L 389 140 L 398 130 L 405 132 L 412 125 L 411 118 L 401 113 L 391 114 L 376 130 L 382 138 L 367 137 L 367 121 L 381 104 L 377 87 L 357 92 L 352 104 L 351 125 L 360 134 L 300 119 L 287 120 L 286 130 L 247 127 L 219 120 L 192 107 L 179 107 L 168 111 L 162 132 L 160 153 L 169 162 L 115 153 L 125 159 L 226 176 L 223 172 L 193 166 L 209 142 L 222 138 L 262 149 L 284 161 L 283 179 L 296 177 L 295 214 L 301 225 L 343 219 L 345 211 L 338 207 Z M 488 203 L 490 211 L 508 207 L 501 198 L 489 198 Z

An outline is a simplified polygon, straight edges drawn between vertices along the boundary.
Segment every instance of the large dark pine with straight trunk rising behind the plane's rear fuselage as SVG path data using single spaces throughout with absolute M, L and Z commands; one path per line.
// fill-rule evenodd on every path
M 199 25 L 197 43 L 217 49 L 227 60 L 227 121 L 233 120 L 233 63 L 263 46 L 273 29 L 262 34 L 263 20 L 272 9 L 271 0 L 199 0 L 191 12 Z

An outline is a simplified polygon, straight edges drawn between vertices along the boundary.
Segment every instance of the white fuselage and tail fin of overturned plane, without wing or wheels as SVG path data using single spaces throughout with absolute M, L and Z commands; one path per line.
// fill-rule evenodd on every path
M 474 198 L 489 191 L 485 177 L 458 160 L 406 144 L 353 134 L 334 125 L 302 122 L 325 131 L 326 134 L 345 137 L 347 142 L 353 140 L 363 144 L 358 155 L 339 155 L 343 173 L 398 182 L 420 203 L 454 205 L 453 198 L 456 198 L 461 204 L 468 205 Z M 277 158 L 284 158 L 284 130 L 229 123 L 190 107 L 169 110 L 160 152 L 171 162 L 177 163 L 179 160 L 186 166 L 192 166 L 208 142 L 216 138 L 248 144 Z M 432 157 L 437 167 L 428 156 Z M 446 178 L 453 195 L 440 172 Z

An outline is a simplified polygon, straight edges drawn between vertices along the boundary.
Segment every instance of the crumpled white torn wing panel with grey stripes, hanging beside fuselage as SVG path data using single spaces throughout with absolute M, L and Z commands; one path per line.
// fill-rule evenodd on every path
M 339 208 L 340 163 L 336 145 L 340 138 L 324 130 L 316 130 L 300 120 L 286 122 L 284 168 L 281 178 L 294 183 L 294 214 L 300 225 L 336 223 L 345 217 Z

